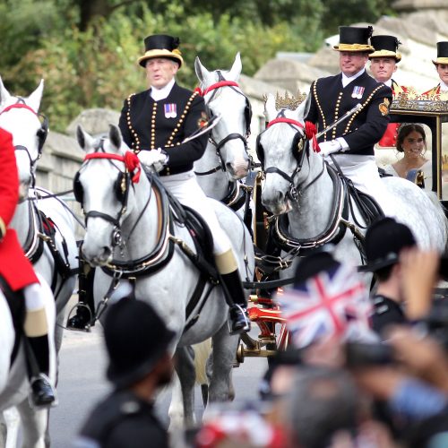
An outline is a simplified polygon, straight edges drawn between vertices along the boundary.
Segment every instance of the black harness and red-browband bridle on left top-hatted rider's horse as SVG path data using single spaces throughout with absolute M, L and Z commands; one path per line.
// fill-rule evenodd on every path
M 132 154 L 130 157 L 137 157 L 132 152 L 128 153 Z M 123 249 L 125 246 L 125 240 L 121 234 L 120 218 L 124 214 L 127 207 L 128 190 L 131 188 L 131 185 L 134 188 L 134 182 L 138 180 L 135 180 L 135 175 L 134 177 L 131 176 L 132 172 L 128 168 L 125 157 L 108 154 L 104 151 L 103 139 L 99 142 L 99 145 L 95 147 L 95 151 L 85 157 L 84 163 L 90 159 L 116 159 L 125 162 L 125 171 L 121 171 L 117 168 L 119 174 L 115 183 L 116 199 L 121 203 L 121 210 L 119 211 L 118 216 L 115 218 L 99 211 L 89 211 L 85 216 L 86 222 L 89 218 L 94 217 L 111 222 L 114 225 L 112 232 L 112 247 L 114 248 L 119 246 Z M 83 191 L 80 181 L 81 171 L 82 168 L 78 171 L 78 173 L 76 173 L 73 179 L 73 193 L 75 199 L 82 204 Z M 202 307 L 205 305 L 207 297 L 210 296 L 211 290 L 220 284 L 220 274 L 216 270 L 216 267 L 211 260 L 211 256 L 207 257 L 205 255 L 211 254 L 212 252 L 212 236 L 210 229 L 195 211 L 181 206 L 180 203 L 168 193 L 157 177 L 151 176 L 150 173 L 147 173 L 147 176 L 151 183 L 151 194 L 155 194 L 158 204 L 158 243 L 150 254 L 147 254 L 142 258 L 131 262 L 122 262 L 114 259 L 106 266 L 101 267 L 102 271 L 112 277 L 112 281 L 105 297 L 103 297 L 99 302 L 99 306 L 97 306 L 97 310 L 91 323 L 99 320 L 101 314 L 104 313 L 108 306 L 108 300 L 118 287 L 120 280 L 129 280 L 134 288 L 138 278 L 151 275 L 166 266 L 174 254 L 175 247 L 178 246 L 200 271 L 200 278 L 185 308 L 186 324 L 184 332 L 186 332 L 199 319 Z M 140 217 L 136 220 L 136 223 L 141 219 L 143 212 L 149 205 L 149 202 L 151 201 L 151 194 L 149 195 L 148 202 L 143 208 Z M 175 222 L 181 226 L 185 226 L 185 228 L 188 228 L 190 236 L 194 241 L 195 252 L 185 243 L 185 241 L 175 236 Z M 134 224 L 134 228 L 136 223 Z M 132 235 L 134 228 L 131 229 L 128 238 Z M 207 284 L 209 285 L 209 289 L 205 291 Z M 192 317 L 195 309 L 197 311 Z

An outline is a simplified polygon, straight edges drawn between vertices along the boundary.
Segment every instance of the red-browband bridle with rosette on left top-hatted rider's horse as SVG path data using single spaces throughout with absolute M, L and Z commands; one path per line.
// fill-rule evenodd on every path
M 74 179 L 73 179 L 73 193 L 74 197 L 77 202 L 80 202 L 81 205 L 83 202 L 83 191 L 82 191 L 82 184 L 80 181 L 80 175 L 82 172 L 82 168 L 87 165 L 87 163 L 92 159 L 108 159 L 111 163 L 111 165 L 116 168 L 116 170 L 120 173 L 116 179 L 115 184 L 115 192 L 116 192 L 116 199 L 118 202 L 120 202 L 121 209 L 118 212 L 118 216 L 114 218 L 113 216 L 109 215 L 108 213 L 103 213 L 102 211 L 88 211 L 85 214 L 85 222 L 87 226 L 87 221 L 89 218 L 100 218 L 101 220 L 106 220 L 113 224 L 114 228 L 112 230 L 112 248 L 116 246 L 123 247 L 125 245 L 122 237 L 121 227 L 120 227 L 120 219 L 125 214 L 125 211 L 127 209 L 127 201 L 129 196 L 129 188 L 130 185 L 134 188 L 134 183 L 139 181 L 140 173 L 141 173 L 141 166 L 140 161 L 136 154 L 132 151 L 126 151 L 125 156 L 120 156 L 118 154 L 109 154 L 104 149 L 104 138 L 101 138 L 99 143 L 95 145 L 94 152 L 90 154 L 86 154 L 83 160 L 82 167 L 80 170 L 76 173 Z M 125 163 L 125 171 L 121 171 L 114 163 L 112 163 L 112 160 L 118 160 Z M 133 177 L 131 177 L 131 174 L 133 174 Z M 148 201 L 149 202 L 149 201 Z M 146 208 L 146 206 L 145 206 Z M 143 209 L 144 211 L 144 209 Z M 139 217 L 135 224 L 138 223 L 141 217 Z M 133 228 L 133 230 L 134 230 Z M 131 232 L 132 233 L 132 232 Z

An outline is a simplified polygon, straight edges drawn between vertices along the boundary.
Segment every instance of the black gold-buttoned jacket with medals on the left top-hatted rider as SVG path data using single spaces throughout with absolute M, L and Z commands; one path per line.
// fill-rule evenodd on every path
M 125 143 L 134 151 L 162 148 L 168 164 L 159 175 L 183 173 L 201 159 L 208 134 L 181 143 L 196 131 L 207 115 L 202 97 L 174 84 L 166 99 L 154 101 L 151 90 L 132 94 L 125 99 L 119 127 Z

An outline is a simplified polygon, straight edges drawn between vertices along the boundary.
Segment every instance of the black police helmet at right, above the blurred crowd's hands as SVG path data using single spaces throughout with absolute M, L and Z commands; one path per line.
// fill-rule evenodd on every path
M 378 271 L 398 263 L 401 250 L 416 246 L 409 227 L 393 218 L 377 220 L 366 231 L 367 263 L 358 271 Z

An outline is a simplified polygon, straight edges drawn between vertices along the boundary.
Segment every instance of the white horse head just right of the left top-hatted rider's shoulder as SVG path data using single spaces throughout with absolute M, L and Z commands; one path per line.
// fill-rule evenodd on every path
M 242 65 L 239 53 L 230 70 L 209 72 L 198 56 L 194 61 L 200 90 L 212 115 L 220 115 L 220 123 L 211 131 L 210 141 L 220 158 L 221 168 L 230 180 L 247 176 L 249 156 L 247 137 L 250 134 L 252 110 L 246 95 L 238 86 Z

